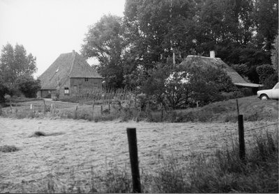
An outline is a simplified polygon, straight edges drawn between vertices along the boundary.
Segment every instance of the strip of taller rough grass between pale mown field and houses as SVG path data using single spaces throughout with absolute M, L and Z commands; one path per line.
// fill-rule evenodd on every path
M 32 104 L 32 109 L 31 109 Z M 246 121 L 278 120 L 278 100 L 261 101 L 256 96 L 238 99 L 239 113 Z M 9 106 L 1 108 L 0 115 L 4 118 L 73 118 L 82 120 L 108 121 L 121 119 L 147 122 L 236 122 L 236 99 L 216 102 L 204 107 L 188 108 L 176 111 L 139 111 L 128 107 L 126 101 L 121 101 L 121 110 L 112 108 L 106 101 L 83 104 L 38 100 L 18 102 L 12 101 Z M 101 106 L 103 114 L 101 113 Z M 46 112 L 45 112 L 46 111 Z

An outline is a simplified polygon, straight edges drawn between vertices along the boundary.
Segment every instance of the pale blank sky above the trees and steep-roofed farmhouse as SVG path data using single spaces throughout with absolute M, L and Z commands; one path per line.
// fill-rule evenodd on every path
M 123 16 L 125 0 L 0 0 L 0 46 L 23 45 L 40 76 L 60 54 L 80 54 L 89 26 L 108 13 Z M 98 60 L 87 60 L 89 65 Z

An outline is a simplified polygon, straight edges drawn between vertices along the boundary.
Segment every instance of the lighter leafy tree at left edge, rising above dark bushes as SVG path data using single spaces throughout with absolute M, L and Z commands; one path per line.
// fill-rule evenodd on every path
M 15 49 L 10 43 L 3 46 L 0 58 L 0 74 L 6 83 L 14 81 L 22 75 L 31 76 L 37 71 L 36 57 L 27 55 L 27 51 L 22 45 L 15 45 Z

